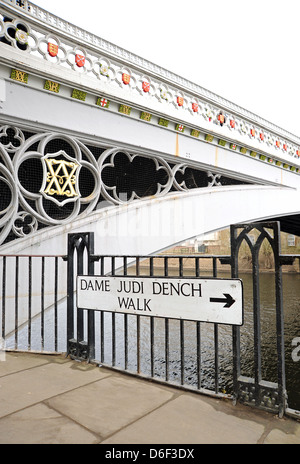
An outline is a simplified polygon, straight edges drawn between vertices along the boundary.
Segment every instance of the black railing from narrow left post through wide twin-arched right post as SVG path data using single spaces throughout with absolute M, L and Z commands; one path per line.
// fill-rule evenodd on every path
M 249 237 L 252 231 L 257 235 L 254 241 Z M 247 299 L 251 299 L 251 327 L 244 342 L 241 341 L 242 328 L 238 326 L 76 307 L 76 275 L 168 277 L 172 272 L 177 277 L 205 275 L 216 278 L 224 270 L 223 265 L 227 264 L 229 276 L 238 278 L 239 250 L 244 240 L 250 250 L 253 282 L 247 295 Z M 275 262 L 276 356 L 275 375 L 271 379 L 265 378 L 262 371 L 259 252 L 265 240 L 272 249 Z M 291 264 L 297 256 L 281 255 L 278 223 L 232 226 L 231 253 L 231 256 L 99 256 L 94 255 L 93 234 L 71 234 L 68 250 L 68 272 L 71 276 L 68 278 L 68 354 L 75 359 L 97 362 L 181 388 L 220 397 L 230 396 L 282 416 L 287 410 L 282 266 Z M 201 265 L 209 261 L 210 270 Z M 248 357 L 244 353 L 250 338 L 253 338 L 254 345 L 249 358 L 249 353 Z M 252 372 L 243 375 L 241 363 L 245 359 L 251 364 L 253 375 Z

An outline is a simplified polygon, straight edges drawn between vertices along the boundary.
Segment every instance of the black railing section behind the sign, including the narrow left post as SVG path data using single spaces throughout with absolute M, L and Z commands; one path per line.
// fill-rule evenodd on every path
M 217 277 L 220 263 L 230 257 L 99 256 L 93 254 L 93 235 L 89 233 L 69 236 L 68 256 L 71 357 L 213 396 L 232 395 L 232 376 L 228 380 L 226 374 L 233 365 L 231 327 L 82 310 L 75 301 L 75 278 L 84 268 L 86 274 L 99 276 Z M 72 263 L 72 256 L 76 263 Z

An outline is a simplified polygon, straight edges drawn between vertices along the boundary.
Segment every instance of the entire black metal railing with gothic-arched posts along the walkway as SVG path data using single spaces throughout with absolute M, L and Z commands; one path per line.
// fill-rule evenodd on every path
M 256 238 L 250 240 L 254 230 Z M 275 261 L 271 376 L 263 365 L 259 291 L 258 258 L 265 240 Z M 243 241 L 252 260 L 245 327 L 77 307 L 78 275 L 238 278 Z M 96 255 L 93 234 L 78 233 L 69 235 L 67 256 L 0 255 L 0 349 L 63 352 L 282 415 L 289 408 L 281 272 L 300 257 L 280 253 L 277 223 L 232 226 L 231 251 L 231 256 Z

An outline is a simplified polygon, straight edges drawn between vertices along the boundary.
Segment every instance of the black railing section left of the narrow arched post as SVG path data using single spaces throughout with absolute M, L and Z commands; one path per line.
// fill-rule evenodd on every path
M 0 255 L 0 326 L 6 350 L 66 351 L 64 268 L 61 256 Z

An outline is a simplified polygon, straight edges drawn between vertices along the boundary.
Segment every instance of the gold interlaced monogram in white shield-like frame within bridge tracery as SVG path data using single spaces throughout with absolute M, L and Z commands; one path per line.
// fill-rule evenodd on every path
M 57 159 L 58 157 L 64 159 Z M 41 193 L 45 198 L 59 206 L 77 200 L 80 197 L 78 190 L 80 164 L 63 151 L 44 156 L 42 162 L 44 181 Z

